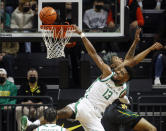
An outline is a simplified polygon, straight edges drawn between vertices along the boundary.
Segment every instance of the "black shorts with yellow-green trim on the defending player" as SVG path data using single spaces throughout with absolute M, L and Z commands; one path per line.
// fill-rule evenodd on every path
M 116 131 L 120 131 L 120 127 L 128 131 L 133 129 L 140 119 L 141 117 L 130 111 L 127 105 L 116 100 L 106 108 L 102 124 L 106 131 L 111 130 L 114 125 Z

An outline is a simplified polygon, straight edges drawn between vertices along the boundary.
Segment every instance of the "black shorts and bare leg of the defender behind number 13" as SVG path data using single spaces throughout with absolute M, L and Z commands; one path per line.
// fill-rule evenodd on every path
M 115 124 L 117 127 L 122 126 L 125 130 L 157 131 L 151 123 L 127 109 L 127 106 L 120 102 L 115 102 L 107 107 L 102 123 L 106 131 L 109 131 L 111 126 Z M 117 128 L 117 131 L 120 131 L 119 128 Z

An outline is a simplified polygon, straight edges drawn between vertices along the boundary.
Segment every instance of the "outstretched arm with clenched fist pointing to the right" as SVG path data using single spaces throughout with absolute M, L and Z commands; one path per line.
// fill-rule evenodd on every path
M 151 51 L 160 50 L 161 48 L 163 48 L 163 45 L 161 45 L 158 42 L 155 42 L 152 46 L 150 46 L 148 49 L 142 51 L 141 53 L 136 55 L 134 58 L 124 61 L 116 69 L 118 69 L 122 66 L 125 66 L 125 65 L 133 67 L 133 66 L 137 65 L 139 62 L 141 62 Z

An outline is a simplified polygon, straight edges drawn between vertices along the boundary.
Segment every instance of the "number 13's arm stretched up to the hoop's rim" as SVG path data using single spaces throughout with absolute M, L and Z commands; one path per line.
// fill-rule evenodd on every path
M 79 30 L 78 27 L 76 27 L 76 33 L 81 35 L 82 31 Z M 104 61 L 101 59 L 101 57 L 97 54 L 95 48 L 93 47 L 93 45 L 91 44 L 91 42 L 85 37 L 85 36 L 81 36 L 83 44 L 88 52 L 88 54 L 90 55 L 90 57 L 93 59 L 93 61 L 96 63 L 96 65 L 98 66 L 98 68 L 101 70 L 101 72 L 103 74 L 110 74 L 111 73 L 111 69 L 110 67 L 104 63 Z

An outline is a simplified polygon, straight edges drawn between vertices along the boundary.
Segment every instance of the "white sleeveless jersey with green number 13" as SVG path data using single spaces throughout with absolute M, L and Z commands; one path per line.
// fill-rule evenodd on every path
M 126 84 L 116 86 L 111 79 L 112 75 L 113 73 L 104 79 L 97 78 L 85 93 L 85 97 L 100 113 L 103 113 L 105 108 L 121 97 L 127 89 Z

